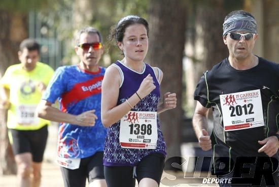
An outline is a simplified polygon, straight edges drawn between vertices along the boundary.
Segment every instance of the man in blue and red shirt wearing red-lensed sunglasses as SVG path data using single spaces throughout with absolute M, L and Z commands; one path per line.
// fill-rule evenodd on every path
M 60 122 L 57 163 L 65 186 L 107 186 L 103 147 L 107 130 L 100 117 L 101 83 L 106 70 L 98 65 L 103 53 L 95 28 L 80 30 L 75 47 L 80 63 L 56 70 L 38 106 L 39 117 Z M 58 99 L 60 110 L 52 107 Z

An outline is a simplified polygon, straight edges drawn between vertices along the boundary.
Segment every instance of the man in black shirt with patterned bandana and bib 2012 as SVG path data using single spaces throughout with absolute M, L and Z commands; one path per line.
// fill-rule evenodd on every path
M 194 92 L 193 127 L 200 147 L 213 149 L 212 173 L 220 186 L 279 186 L 279 65 L 252 53 L 257 38 L 250 13 L 229 13 L 223 24 L 229 57 L 206 71 Z

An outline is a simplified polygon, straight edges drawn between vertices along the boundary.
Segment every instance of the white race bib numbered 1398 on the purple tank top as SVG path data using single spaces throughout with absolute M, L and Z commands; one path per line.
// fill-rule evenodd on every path
M 157 112 L 129 111 L 120 120 L 121 147 L 155 149 L 157 147 Z

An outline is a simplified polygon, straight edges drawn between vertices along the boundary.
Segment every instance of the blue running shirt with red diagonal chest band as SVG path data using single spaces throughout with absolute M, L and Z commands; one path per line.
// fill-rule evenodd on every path
M 69 114 L 79 115 L 94 109 L 98 116 L 93 127 L 59 124 L 59 157 L 86 158 L 103 151 L 107 129 L 101 123 L 101 83 L 105 70 L 99 67 L 93 73 L 73 65 L 55 71 L 42 99 L 51 103 L 58 99 L 60 110 Z

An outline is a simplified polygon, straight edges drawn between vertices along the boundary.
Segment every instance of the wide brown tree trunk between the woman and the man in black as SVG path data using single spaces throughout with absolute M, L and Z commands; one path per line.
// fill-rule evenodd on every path
M 161 97 L 177 93 L 177 108 L 159 115 L 167 144 L 167 158 L 180 157 L 182 124 L 182 59 L 185 43 L 186 10 L 179 0 L 154 0 L 149 12 L 149 56 L 147 61 L 159 67 L 164 77 Z

